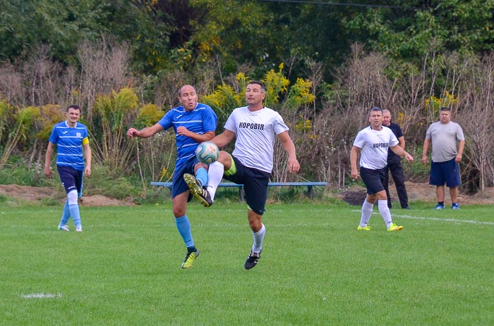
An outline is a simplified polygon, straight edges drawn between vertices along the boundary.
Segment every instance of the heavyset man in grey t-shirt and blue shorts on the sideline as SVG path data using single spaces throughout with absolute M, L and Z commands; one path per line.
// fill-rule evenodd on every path
M 429 184 L 436 186 L 438 204 L 435 209 L 445 208 L 445 184 L 450 188 L 451 208 L 459 209 L 458 190 L 462 184 L 459 177 L 459 161 L 462 161 L 465 137 L 462 127 L 451 121 L 451 109 L 439 111 L 439 121 L 429 126 L 423 142 L 422 163 L 427 163 L 427 152 L 432 144 Z

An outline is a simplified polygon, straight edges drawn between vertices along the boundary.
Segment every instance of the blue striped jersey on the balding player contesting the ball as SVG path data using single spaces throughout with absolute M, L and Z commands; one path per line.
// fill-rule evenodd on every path
M 177 153 L 176 166 L 195 156 L 194 152 L 198 146 L 198 142 L 195 142 L 191 137 L 177 134 L 176 128 L 183 126 L 196 134 L 205 134 L 216 130 L 217 120 L 218 118 L 210 106 L 198 103 L 193 111 L 186 111 L 183 106 L 172 108 L 158 121 L 164 130 L 169 127 L 174 129 Z

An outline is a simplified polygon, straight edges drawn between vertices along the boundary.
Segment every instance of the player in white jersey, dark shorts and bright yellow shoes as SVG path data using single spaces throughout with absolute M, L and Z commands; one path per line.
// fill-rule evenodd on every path
M 387 196 L 384 187 L 385 166 L 387 164 L 387 150 L 392 149 L 399 156 L 405 156 L 406 161 L 414 161 L 414 158 L 402 147 L 390 128 L 382 127 L 382 109 L 372 108 L 369 113 L 370 126 L 359 131 L 351 147 L 350 163 L 351 177 L 357 180 L 359 170 L 357 170 L 357 156 L 360 158 L 360 175 L 363 183 L 366 184 L 367 196 L 363 201 L 362 215 L 360 219 L 359 231 L 370 231 L 368 221 L 372 215 L 374 203 L 378 201 L 379 213 L 386 224 L 388 231 L 399 231 L 403 227 L 393 223 L 390 208 L 387 207 Z

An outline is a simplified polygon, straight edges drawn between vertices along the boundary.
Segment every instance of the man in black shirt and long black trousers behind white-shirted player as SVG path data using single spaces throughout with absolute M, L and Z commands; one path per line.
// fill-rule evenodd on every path
M 400 128 L 399 125 L 397 125 L 396 123 L 391 122 L 391 113 L 389 110 L 382 110 L 382 125 L 392 130 L 394 136 L 396 136 L 399 141 L 399 146 L 402 147 L 402 149 L 405 149 L 405 139 L 403 137 L 402 128 Z M 387 207 L 391 208 L 388 171 L 391 171 L 394 186 L 396 187 L 396 191 L 398 193 L 399 204 L 404 209 L 410 209 L 410 206 L 408 205 L 408 195 L 406 194 L 405 176 L 403 174 L 402 161 L 401 158 L 391 150 L 388 150 L 387 152 L 387 165 L 385 167 L 386 180 L 384 182 L 384 187 L 387 195 Z

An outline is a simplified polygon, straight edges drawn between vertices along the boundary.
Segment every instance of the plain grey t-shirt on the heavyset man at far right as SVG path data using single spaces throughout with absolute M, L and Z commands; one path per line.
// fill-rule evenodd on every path
M 445 162 L 457 156 L 457 142 L 465 140 L 462 127 L 457 123 L 433 123 L 429 126 L 426 139 L 432 142 L 432 161 Z

